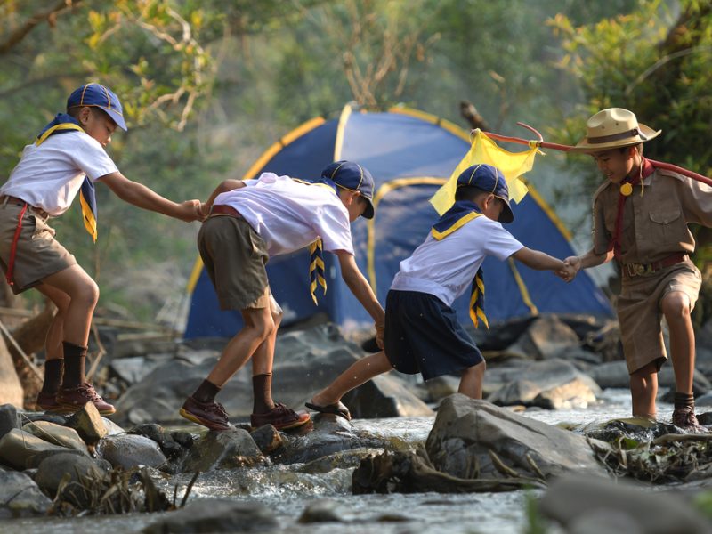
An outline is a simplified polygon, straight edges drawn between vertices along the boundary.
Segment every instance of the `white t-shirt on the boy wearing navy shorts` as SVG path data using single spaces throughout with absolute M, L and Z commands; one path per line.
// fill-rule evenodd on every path
M 428 293 L 451 306 L 472 287 L 486 256 L 504 261 L 523 247 L 500 223 L 481 215 L 440 241 L 428 234 L 413 255 L 401 262 L 391 289 Z

